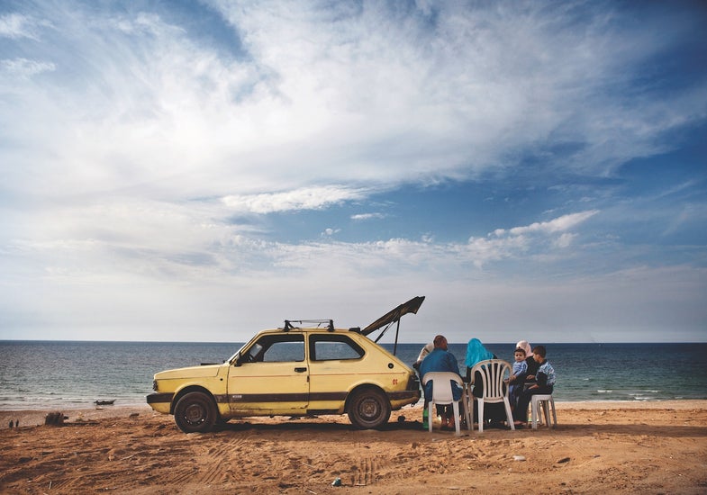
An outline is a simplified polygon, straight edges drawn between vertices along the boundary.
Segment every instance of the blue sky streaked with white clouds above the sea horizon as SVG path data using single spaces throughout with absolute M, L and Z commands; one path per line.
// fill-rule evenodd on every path
M 707 340 L 701 2 L 0 3 L 0 338 Z

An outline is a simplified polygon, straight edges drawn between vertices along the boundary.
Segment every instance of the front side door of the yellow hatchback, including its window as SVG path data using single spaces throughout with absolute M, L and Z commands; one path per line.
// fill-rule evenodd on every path
M 303 414 L 309 367 L 301 332 L 261 336 L 231 365 L 228 401 L 234 416 Z

